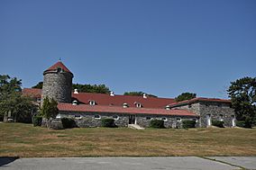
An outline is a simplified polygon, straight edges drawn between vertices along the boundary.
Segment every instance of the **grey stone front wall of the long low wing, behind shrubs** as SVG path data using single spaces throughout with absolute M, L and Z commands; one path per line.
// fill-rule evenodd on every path
M 127 127 L 129 123 L 129 115 L 131 114 L 114 114 L 114 113 L 92 113 L 92 112 L 60 112 L 60 117 L 73 118 L 78 127 L 100 127 L 101 119 L 112 118 L 118 116 L 118 119 L 114 120 L 114 123 L 118 127 Z M 95 116 L 100 116 L 100 119 Z M 197 119 L 195 116 L 173 116 L 173 115 L 150 115 L 150 114 L 135 114 L 135 122 L 141 127 L 147 128 L 150 126 L 151 120 L 164 118 L 164 126 L 166 128 L 181 128 L 182 120 Z M 196 125 L 198 127 L 198 124 Z

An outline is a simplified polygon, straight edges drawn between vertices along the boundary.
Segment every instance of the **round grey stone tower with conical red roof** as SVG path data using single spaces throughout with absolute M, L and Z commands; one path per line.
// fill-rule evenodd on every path
M 59 60 L 43 72 L 41 103 L 48 96 L 58 103 L 71 103 L 73 74 Z

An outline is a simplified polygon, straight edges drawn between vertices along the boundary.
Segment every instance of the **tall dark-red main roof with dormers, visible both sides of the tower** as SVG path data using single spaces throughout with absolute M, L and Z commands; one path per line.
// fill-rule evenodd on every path
M 36 88 L 24 88 L 23 94 L 32 96 L 41 96 L 41 89 Z M 132 95 L 116 95 L 110 96 L 110 94 L 92 94 L 92 93 L 79 93 L 72 94 L 72 97 L 77 99 L 80 103 L 89 103 L 89 101 L 95 101 L 96 105 L 113 105 L 123 106 L 123 103 L 127 103 L 129 107 L 136 107 L 135 103 L 141 103 L 143 108 L 165 108 L 169 103 L 174 103 L 174 99 L 150 97 L 143 98 L 143 96 Z

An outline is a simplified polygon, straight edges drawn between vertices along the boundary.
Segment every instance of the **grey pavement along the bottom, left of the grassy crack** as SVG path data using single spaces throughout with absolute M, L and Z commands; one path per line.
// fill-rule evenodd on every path
M 200 157 L 0 158 L 2 170 L 234 170 L 236 166 Z M 254 157 L 254 160 L 255 157 Z

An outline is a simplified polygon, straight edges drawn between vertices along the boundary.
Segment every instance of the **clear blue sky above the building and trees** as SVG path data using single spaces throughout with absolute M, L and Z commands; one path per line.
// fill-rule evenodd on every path
M 115 94 L 227 98 L 256 75 L 256 1 L 1 0 L 0 57 L 23 87 L 62 58 L 74 83 Z

